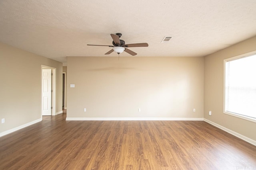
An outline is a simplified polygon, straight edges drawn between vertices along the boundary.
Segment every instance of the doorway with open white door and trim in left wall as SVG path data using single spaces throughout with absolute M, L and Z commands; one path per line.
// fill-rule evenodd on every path
M 56 112 L 56 68 L 41 65 L 41 115 Z

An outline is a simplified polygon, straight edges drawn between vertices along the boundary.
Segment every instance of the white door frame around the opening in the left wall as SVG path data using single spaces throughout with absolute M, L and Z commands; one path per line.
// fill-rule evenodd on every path
M 56 68 L 46 65 L 41 65 L 41 118 L 42 110 L 43 110 L 43 101 L 42 101 L 42 93 L 43 93 L 43 86 L 42 86 L 42 69 L 52 69 L 52 111 L 51 114 L 54 116 L 56 113 Z

